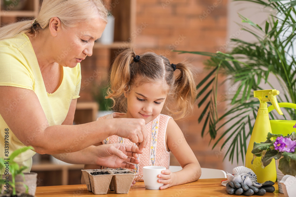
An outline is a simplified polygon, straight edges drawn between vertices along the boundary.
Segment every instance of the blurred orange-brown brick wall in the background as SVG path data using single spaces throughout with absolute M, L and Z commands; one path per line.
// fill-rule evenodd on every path
M 178 54 L 171 50 L 186 51 L 218 51 L 226 43 L 227 25 L 227 1 L 226 0 L 137 0 L 136 1 L 136 29 L 132 34 L 136 53 L 151 49 L 157 54 L 162 54 L 177 64 L 182 60 L 190 61 L 197 71 L 196 82 L 198 83 L 206 74 L 202 62 L 204 56 Z M 104 62 L 110 58 L 110 52 L 98 50 L 96 57 L 82 64 L 82 86 L 80 101 L 90 101 L 89 96 L 93 88 L 107 80 L 108 69 Z M 83 66 L 88 65 L 88 66 Z M 92 77 L 97 71 L 97 78 Z M 93 79 L 94 78 L 94 79 Z M 91 80 L 92 79 L 92 80 Z M 88 84 L 92 82 L 92 85 Z M 219 89 L 219 95 L 223 94 L 224 88 Z M 219 109 L 223 109 L 220 105 Z M 218 145 L 211 149 L 209 135 L 201 138 L 203 123 L 198 124 L 198 117 L 203 108 L 197 105 L 192 116 L 177 121 L 186 140 L 194 151 L 202 167 L 223 169 L 223 156 L 219 152 Z M 171 165 L 178 165 L 174 157 Z

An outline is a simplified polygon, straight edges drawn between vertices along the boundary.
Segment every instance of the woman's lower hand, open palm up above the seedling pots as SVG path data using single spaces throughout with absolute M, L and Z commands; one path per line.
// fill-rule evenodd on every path
M 95 146 L 96 165 L 109 168 L 130 168 L 136 166 L 130 163 L 139 164 L 137 159 L 143 153 L 138 147 L 128 144 L 103 144 Z M 128 163 L 129 162 L 129 163 Z

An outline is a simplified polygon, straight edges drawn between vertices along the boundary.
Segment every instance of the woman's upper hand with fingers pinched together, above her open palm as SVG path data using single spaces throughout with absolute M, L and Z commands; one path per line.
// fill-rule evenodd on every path
M 136 143 L 139 150 L 143 150 L 146 147 L 148 135 L 144 119 L 115 118 L 113 126 L 115 135 Z

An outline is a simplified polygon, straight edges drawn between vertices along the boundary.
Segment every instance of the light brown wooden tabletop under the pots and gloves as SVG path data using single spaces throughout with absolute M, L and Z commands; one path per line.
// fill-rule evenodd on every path
M 102 196 L 161 196 L 161 197 L 181 197 L 181 196 L 238 196 L 229 195 L 226 188 L 221 185 L 221 178 L 219 179 L 200 179 L 198 181 L 187 183 L 184 185 L 177 185 L 165 190 L 147 190 L 145 189 L 144 182 L 137 182 L 136 185 L 131 187 L 127 194 L 116 194 L 114 191 L 108 191 L 107 194 Z M 266 193 L 264 196 L 284 196 L 279 193 L 278 185 L 275 183 L 276 190 L 274 193 Z M 36 197 L 46 196 L 91 196 L 94 195 L 91 191 L 87 191 L 86 185 L 60 185 L 60 186 L 47 186 L 37 187 Z M 96 195 L 100 196 L 100 195 Z M 255 196 L 255 195 L 253 195 Z

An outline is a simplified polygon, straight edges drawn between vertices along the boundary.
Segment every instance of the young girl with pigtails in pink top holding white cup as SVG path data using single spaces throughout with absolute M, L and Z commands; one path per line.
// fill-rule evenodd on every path
M 175 76 L 175 70 L 179 74 Z M 106 98 L 114 102 L 115 113 L 107 118 L 142 118 L 148 132 L 148 144 L 139 155 L 139 164 L 133 169 L 136 181 L 143 181 L 144 166 L 170 165 L 170 152 L 182 166 L 178 172 L 163 170 L 158 182 L 160 189 L 198 180 L 201 168 L 187 144 L 181 129 L 169 115 L 183 118 L 193 108 L 196 88 L 192 67 L 188 63 L 170 64 L 169 60 L 155 53 L 136 55 L 128 49 L 121 52 L 112 65 L 110 88 Z M 132 144 L 128 139 L 110 136 L 100 144 Z M 96 144 L 99 145 L 99 144 Z M 134 156 L 134 155 L 133 155 Z M 101 169 L 85 165 L 84 169 Z

